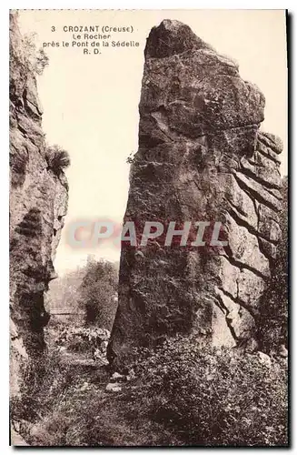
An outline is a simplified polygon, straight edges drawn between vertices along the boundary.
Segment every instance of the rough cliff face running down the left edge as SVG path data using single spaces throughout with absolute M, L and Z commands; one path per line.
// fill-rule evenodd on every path
M 20 368 L 45 347 L 49 315 L 44 293 L 55 278 L 54 253 L 67 209 L 63 171 L 45 159 L 35 72 L 24 51 L 15 14 L 10 16 L 10 316 L 11 395 Z

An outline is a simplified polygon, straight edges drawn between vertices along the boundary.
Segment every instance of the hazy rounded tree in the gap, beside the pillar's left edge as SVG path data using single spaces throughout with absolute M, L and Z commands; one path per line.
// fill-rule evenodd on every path
M 80 287 L 86 322 L 111 329 L 117 308 L 117 269 L 112 262 L 90 260 Z

